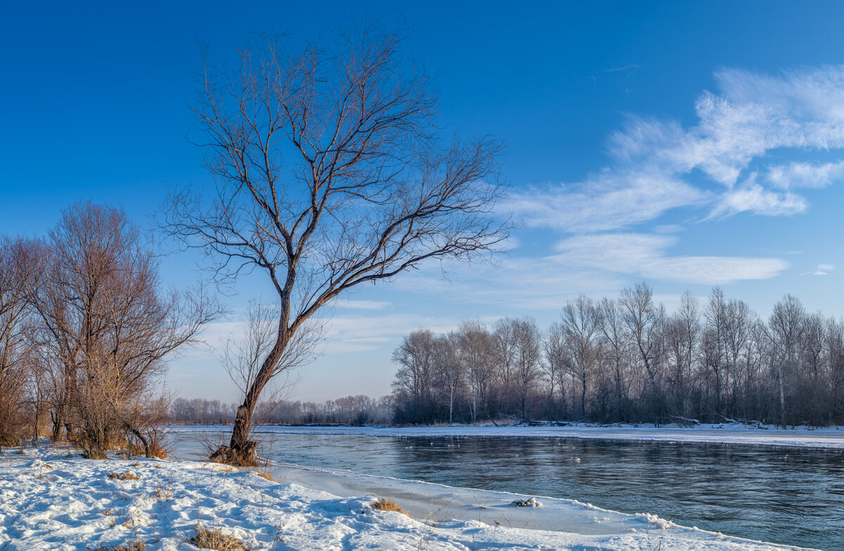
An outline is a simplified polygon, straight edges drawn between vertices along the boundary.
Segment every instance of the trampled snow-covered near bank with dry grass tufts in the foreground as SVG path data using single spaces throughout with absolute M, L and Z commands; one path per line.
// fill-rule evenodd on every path
M 108 549 L 138 540 L 148 549 L 195 549 L 186 540 L 197 522 L 255 550 L 788 548 L 571 500 L 539 497 L 542 507 L 516 508 L 514 499 L 532 496 L 353 472 L 280 466 L 275 483 L 197 461 L 14 451 L 0 456 L 0 551 Z M 376 497 L 390 496 L 411 516 L 369 509 Z

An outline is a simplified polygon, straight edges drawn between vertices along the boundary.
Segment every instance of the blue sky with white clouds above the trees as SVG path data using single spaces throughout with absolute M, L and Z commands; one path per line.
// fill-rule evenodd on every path
M 208 176 L 188 106 L 199 46 L 233 57 L 252 32 L 297 38 L 379 19 L 434 76 L 441 123 L 506 144 L 522 228 L 495 265 L 438 266 L 331 312 L 295 398 L 387 393 L 420 325 L 533 315 L 579 292 L 648 281 L 669 308 L 720 284 L 761 315 L 785 292 L 844 315 L 844 4 L 17 3 L 0 20 L 0 232 L 37 235 L 76 199 L 149 225 L 168 187 Z M 194 259 L 165 259 L 188 284 Z M 234 314 L 208 331 L 239 327 Z M 205 349 L 174 361 L 177 393 L 232 401 Z

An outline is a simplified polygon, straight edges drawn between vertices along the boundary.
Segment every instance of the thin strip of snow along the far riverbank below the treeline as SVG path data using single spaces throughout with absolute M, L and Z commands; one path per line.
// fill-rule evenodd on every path
M 214 431 L 230 430 L 225 425 L 170 425 L 170 430 Z M 663 426 L 511 426 L 493 425 L 451 425 L 442 427 L 292 427 L 285 425 L 261 425 L 261 433 L 277 434 L 360 434 L 364 436 L 484 436 L 484 437 L 537 437 L 537 438 L 582 438 L 611 440 L 647 440 L 662 442 L 688 442 L 698 444 L 746 444 L 797 446 L 844 450 L 844 429 L 806 428 L 779 429 L 771 426 L 728 423 L 722 425 L 700 425 L 696 427 Z

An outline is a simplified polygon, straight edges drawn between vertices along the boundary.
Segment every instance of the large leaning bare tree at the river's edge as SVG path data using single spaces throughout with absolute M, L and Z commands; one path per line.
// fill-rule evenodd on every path
M 166 226 L 211 254 L 219 276 L 262 270 L 278 293 L 275 339 L 238 409 L 232 461 L 251 456 L 262 390 L 333 297 L 426 260 L 473 259 L 506 238 L 508 223 L 493 215 L 500 144 L 441 145 L 436 96 L 399 43 L 336 32 L 301 52 L 265 41 L 232 71 L 204 64 L 195 111 L 216 187 L 211 200 L 175 194 Z

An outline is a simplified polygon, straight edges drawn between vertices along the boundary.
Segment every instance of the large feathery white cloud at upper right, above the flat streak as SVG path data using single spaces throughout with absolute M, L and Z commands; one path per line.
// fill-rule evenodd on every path
M 844 148 L 844 66 L 776 75 L 725 69 L 715 77 L 721 92 L 698 97 L 695 126 L 628 117 L 609 140 L 612 165 L 580 183 L 516 194 L 509 206 L 528 226 L 610 231 L 679 207 L 710 205 L 710 217 L 807 210 L 802 196 L 772 191 L 752 177 L 737 186 L 754 161 L 768 176 L 765 182 L 778 188 L 819 188 L 844 177 L 844 161 L 764 166 L 775 149 L 782 157 L 789 149 Z M 693 179 L 695 171 L 721 190 L 713 193 L 709 183 Z

